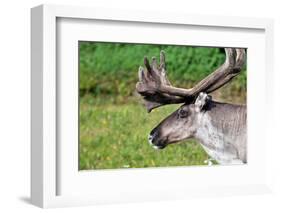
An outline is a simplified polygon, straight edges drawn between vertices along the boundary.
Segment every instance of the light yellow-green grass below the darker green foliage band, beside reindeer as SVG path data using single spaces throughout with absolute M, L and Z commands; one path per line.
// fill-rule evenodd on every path
M 153 149 L 149 132 L 178 106 L 148 114 L 131 100 L 111 104 L 91 96 L 80 100 L 80 169 L 144 168 L 202 165 L 208 158 L 193 140 Z

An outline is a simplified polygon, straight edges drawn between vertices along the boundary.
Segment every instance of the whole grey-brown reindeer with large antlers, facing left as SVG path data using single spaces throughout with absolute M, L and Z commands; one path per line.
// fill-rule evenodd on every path
M 147 111 L 166 104 L 183 104 L 150 132 L 148 140 L 155 149 L 195 138 L 219 164 L 247 162 L 246 106 L 213 101 L 208 95 L 237 76 L 245 62 L 242 48 L 225 48 L 225 54 L 225 62 L 190 89 L 172 86 L 163 51 L 159 65 L 155 57 L 151 65 L 144 58 L 146 70 L 139 68 L 136 90 Z

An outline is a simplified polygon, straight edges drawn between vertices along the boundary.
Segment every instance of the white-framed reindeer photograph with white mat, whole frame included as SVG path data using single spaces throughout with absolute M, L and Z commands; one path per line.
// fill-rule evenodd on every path
M 271 20 L 31 14 L 32 203 L 270 192 Z

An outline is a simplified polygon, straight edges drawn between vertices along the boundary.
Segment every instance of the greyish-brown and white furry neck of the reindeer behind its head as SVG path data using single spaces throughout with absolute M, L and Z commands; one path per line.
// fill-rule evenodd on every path
M 244 111 L 245 106 L 212 101 L 198 115 L 194 137 L 218 162 L 232 162 L 239 157 L 235 141 L 243 128 L 239 124 Z

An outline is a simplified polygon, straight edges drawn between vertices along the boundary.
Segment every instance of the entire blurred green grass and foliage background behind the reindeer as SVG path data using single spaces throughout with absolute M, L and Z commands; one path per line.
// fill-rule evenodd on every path
M 166 53 L 175 86 L 191 87 L 220 66 L 224 49 L 173 45 L 79 42 L 79 167 L 86 169 L 204 165 L 207 154 L 194 140 L 154 150 L 149 132 L 179 105 L 148 114 L 135 92 L 143 58 Z M 246 69 L 214 92 L 214 99 L 246 102 Z

